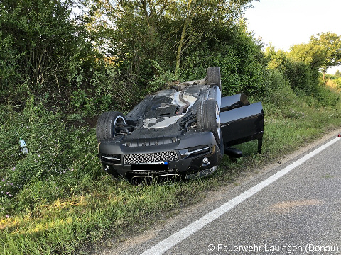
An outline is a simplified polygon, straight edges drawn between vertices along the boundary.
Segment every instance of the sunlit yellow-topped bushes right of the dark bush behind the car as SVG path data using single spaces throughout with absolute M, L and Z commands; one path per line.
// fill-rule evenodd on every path
M 266 84 L 267 101 L 274 103 L 274 106 L 281 106 L 284 101 L 290 103 L 293 93 L 308 100 L 310 106 L 335 106 L 339 101 L 340 94 L 331 91 L 319 79 L 318 64 L 315 58 L 318 50 L 308 45 L 295 45 L 291 52 L 274 50 L 274 47 L 266 49 L 268 62 L 268 81 Z M 308 52 L 310 52 L 308 54 Z M 316 54 L 315 54 L 316 53 Z M 315 57 L 312 57 L 315 56 Z M 277 84 L 281 84 L 278 86 Z M 290 84 L 291 89 L 288 89 Z M 278 92 L 283 94 L 283 100 L 278 100 Z M 287 98 L 288 95 L 291 95 Z M 307 95 L 313 96 L 307 97 Z M 284 103 L 285 105 L 286 103 Z M 284 105 L 281 107 L 284 108 Z

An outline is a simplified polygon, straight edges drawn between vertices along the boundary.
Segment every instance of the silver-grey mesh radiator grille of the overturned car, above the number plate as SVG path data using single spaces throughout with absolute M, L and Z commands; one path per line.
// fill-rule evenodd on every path
M 146 154 L 126 154 L 124 156 L 124 164 L 141 164 L 153 162 L 168 162 L 178 160 L 178 154 L 171 152 L 154 152 Z

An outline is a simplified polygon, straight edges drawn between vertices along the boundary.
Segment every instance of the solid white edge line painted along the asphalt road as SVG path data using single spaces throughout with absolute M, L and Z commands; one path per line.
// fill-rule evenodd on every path
M 325 145 L 318 147 L 317 149 L 313 150 L 313 152 L 310 152 L 301 159 L 298 159 L 296 162 L 293 162 L 293 164 L 286 166 L 284 169 L 278 171 L 276 174 L 270 176 L 268 179 L 261 181 L 256 186 L 253 186 L 252 188 L 240 194 L 239 196 L 232 198 L 232 200 L 229 200 L 227 203 L 224 203 L 224 205 L 221 205 L 219 208 L 212 210 L 211 212 L 207 213 L 207 215 L 201 217 L 199 220 L 196 220 L 187 227 L 180 229 L 175 234 L 172 234 L 171 237 L 164 239 L 163 241 L 151 247 L 151 249 L 144 251 L 144 253 L 142 253 L 141 255 L 159 255 L 165 253 L 179 242 L 185 240 L 191 234 L 194 234 L 199 229 L 202 229 L 202 227 L 205 227 L 213 220 L 216 220 L 218 217 L 222 216 L 224 213 L 228 212 L 232 208 L 244 202 L 244 200 L 247 200 L 247 198 L 250 198 L 257 192 L 261 191 L 266 186 L 269 186 L 274 181 L 280 179 L 285 174 L 288 174 L 289 171 L 295 169 L 297 166 L 300 166 L 308 159 L 319 154 L 320 152 L 323 151 L 323 149 L 330 147 L 330 145 L 334 144 L 338 140 L 340 140 L 340 138 L 335 138 L 330 142 L 327 142 Z

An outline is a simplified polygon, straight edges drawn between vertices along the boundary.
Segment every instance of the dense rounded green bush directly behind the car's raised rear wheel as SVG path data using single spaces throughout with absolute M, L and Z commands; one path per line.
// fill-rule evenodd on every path
M 192 45 L 181 67 L 181 79 L 205 77 L 207 67 L 218 66 L 222 72 L 224 95 L 244 92 L 262 94 L 266 62 L 261 44 L 244 31 L 244 26 L 214 26 L 204 28 L 210 33 L 200 45 Z

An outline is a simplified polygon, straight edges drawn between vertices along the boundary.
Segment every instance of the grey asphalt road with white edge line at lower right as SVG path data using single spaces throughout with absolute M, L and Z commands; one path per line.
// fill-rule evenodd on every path
M 324 146 L 107 254 L 341 254 L 341 140 Z

